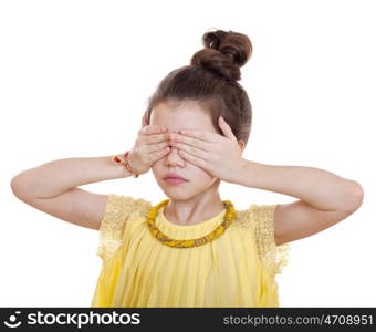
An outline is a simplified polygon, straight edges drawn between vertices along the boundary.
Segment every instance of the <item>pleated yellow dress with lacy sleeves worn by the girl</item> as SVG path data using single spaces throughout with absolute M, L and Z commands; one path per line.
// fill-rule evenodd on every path
M 280 307 L 275 274 L 290 243 L 275 246 L 275 205 L 236 210 L 224 234 L 194 248 L 163 245 L 150 232 L 143 198 L 109 195 L 101 221 L 102 270 L 92 307 Z M 156 226 L 174 239 L 192 239 L 222 222 L 226 209 L 202 222 L 177 225 L 164 208 Z

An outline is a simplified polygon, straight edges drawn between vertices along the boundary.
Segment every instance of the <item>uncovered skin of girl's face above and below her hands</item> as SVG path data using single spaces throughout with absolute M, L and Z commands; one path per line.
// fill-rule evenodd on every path
M 180 129 L 207 131 L 217 133 L 211 124 L 208 113 L 195 102 L 163 102 L 153 108 L 150 124 L 164 125 L 170 133 L 178 133 Z M 217 133 L 218 134 L 218 133 Z M 176 147 L 161 157 L 152 166 L 153 174 L 167 197 L 175 200 L 185 200 L 194 197 L 209 187 L 219 185 L 220 180 L 211 176 L 202 168 L 184 159 Z M 177 174 L 188 181 L 171 185 L 164 178 L 167 174 Z

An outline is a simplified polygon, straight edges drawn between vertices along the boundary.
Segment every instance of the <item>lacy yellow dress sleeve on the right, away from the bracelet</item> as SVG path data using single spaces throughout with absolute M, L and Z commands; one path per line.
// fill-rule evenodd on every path
M 276 246 L 274 241 L 274 211 L 278 204 L 251 205 L 250 217 L 258 253 L 265 270 L 271 277 L 280 274 L 288 264 L 290 243 Z

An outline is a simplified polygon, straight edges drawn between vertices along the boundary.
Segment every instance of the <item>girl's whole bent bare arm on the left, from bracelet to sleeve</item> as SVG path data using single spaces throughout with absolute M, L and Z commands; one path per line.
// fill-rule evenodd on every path
M 111 157 L 58 159 L 27 169 L 11 179 L 13 194 L 28 205 L 65 221 L 100 229 L 108 195 L 77 188 L 130 174 Z

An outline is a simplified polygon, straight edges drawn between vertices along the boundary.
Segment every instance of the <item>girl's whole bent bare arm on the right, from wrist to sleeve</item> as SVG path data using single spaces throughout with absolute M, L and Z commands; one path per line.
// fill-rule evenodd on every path
M 333 173 L 306 166 L 265 165 L 246 160 L 233 183 L 299 198 L 274 214 L 278 246 L 322 231 L 356 211 L 362 186 Z

